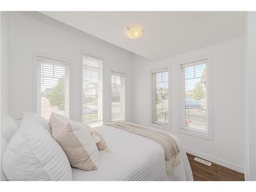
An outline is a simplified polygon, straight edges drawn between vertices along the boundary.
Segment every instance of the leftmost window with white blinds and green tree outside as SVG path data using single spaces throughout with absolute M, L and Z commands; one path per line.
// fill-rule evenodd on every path
M 37 112 L 49 120 L 51 113 L 69 117 L 69 63 L 37 57 Z

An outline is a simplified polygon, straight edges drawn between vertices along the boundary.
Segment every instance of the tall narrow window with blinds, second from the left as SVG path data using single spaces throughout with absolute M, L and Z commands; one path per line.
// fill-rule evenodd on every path
M 83 54 L 82 122 L 102 124 L 102 60 Z

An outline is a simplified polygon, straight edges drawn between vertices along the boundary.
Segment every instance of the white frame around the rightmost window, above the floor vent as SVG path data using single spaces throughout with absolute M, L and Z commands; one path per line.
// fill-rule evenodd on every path
M 182 127 L 182 121 L 184 120 L 183 113 L 181 109 L 184 108 L 184 102 L 182 102 L 181 95 L 183 93 L 181 89 L 184 87 L 184 77 L 183 77 L 183 72 L 182 72 L 182 66 L 194 66 L 196 62 L 206 62 L 206 86 L 208 87 L 207 93 L 206 93 L 206 105 L 207 105 L 207 121 L 208 121 L 208 126 L 207 126 L 207 131 L 200 131 L 196 129 L 189 129 Z M 181 62 L 178 64 L 178 69 L 179 69 L 179 76 L 178 76 L 178 82 L 179 83 L 179 132 L 195 137 L 200 137 L 208 140 L 212 140 L 212 65 L 211 65 L 211 56 L 204 56 L 204 57 L 198 57 L 194 59 L 189 59 L 186 62 Z

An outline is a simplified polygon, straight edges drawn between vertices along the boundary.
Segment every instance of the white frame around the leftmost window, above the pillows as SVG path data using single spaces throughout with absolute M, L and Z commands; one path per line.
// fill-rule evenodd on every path
M 65 66 L 65 78 L 68 79 L 68 81 L 65 81 L 68 84 L 68 90 L 65 90 L 66 94 L 68 94 L 68 102 L 66 101 L 65 103 L 68 105 L 68 110 L 65 110 L 65 116 L 70 117 L 70 61 L 68 59 L 61 59 L 57 57 L 52 57 L 46 54 L 38 54 L 38 53 L 33 53 L 34 58 L 36 59 L 37 63 L 37 81 L 36 81 L 36 94 L 37 94 L 37 105 L 36 105 L 36 111 L 37 114 L 41 115 L 41 97 L 40 97 L 40 90 L 41 90 L 41 60 L 45 59 L 50 60 L 50 61 L 56 61 L 58 65 L 63 65 Z M 67 98 L 65 97 L 65 100 Z M 65 106 L 66 108 L 66 106 Z

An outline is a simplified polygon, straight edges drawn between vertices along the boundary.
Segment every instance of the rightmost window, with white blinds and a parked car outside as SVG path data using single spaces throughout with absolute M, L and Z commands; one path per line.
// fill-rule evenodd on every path
M 181 131 L 209 137 L 207 59 L 181 65 Z

